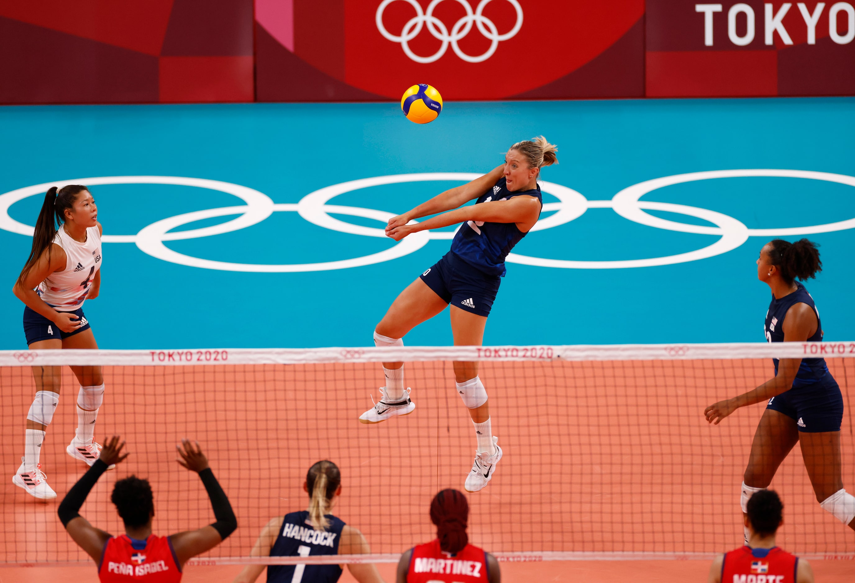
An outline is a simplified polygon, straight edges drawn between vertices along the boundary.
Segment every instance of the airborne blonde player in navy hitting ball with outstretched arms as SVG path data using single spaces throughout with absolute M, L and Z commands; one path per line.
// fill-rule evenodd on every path
M 451 250 L 402 291 L 386 311 L 374 328 L 374 344 L 404 345 L 404 335 L 413 327 L 451 305 L 454 344 L 481 345 L 487 316 L 505 274 L 505 258 L 540 218 L 543 201 L 537 180 L 540 168 L 557 162 L 556 152 L 557 148 L 543 136 L 513 144 L 505 154 L 504 164 L 490 173 L 389 220 L 386 235 L 396 241 L 410 233 L 463 224 L 454 236 Z M 475 204 L 461 207 L 471 200 Z M 437 213 L 441 214 L 415 222 Z M 416 404 L 410 398 L 410 389 L 404 388 L 403 365 L 403 362 L 383 363 L 386 386 L 380 387 L 380 402 L 363 413 L 359 421 L 380 423 L 413 412 Z M 492 479 L 502 449 L 492 434 L 478 363 L 454 362 L 454 375 L 457 393 L 475 425 L 477 444 L 465 488 L 477 492 Z

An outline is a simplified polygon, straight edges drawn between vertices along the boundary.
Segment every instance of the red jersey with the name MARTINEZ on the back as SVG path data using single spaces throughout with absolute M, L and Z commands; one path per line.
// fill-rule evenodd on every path
M 486 553 L 466 545 L 454 555 L 439 549 L 439 539 L 413 547 L 407 583 L 486 583 Z

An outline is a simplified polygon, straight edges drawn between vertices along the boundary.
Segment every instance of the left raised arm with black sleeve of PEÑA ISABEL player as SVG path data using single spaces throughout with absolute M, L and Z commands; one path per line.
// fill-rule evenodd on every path
M 71 486 L 71 490 L 68 491 L 65 498 L 62 498 L 59 508 L 56 509 L 56 514 L 59 515 L 62 526 L 65 527 L 68 535 L 80 545 L 80 548 L 96 564 L 101 562 L 104 545 L 107 544 L 111 535 L 89 524 L 89 521 L 79 514 L 80 507 L 91 492 L 92 486 L 95 486 L 101 474 L 107 471 L 107 467 L 110 464 L 119 463 L 127 457 L 127 453 L 121 454 L 124 446 L 125 442 L 120 444 L 117 436 L 114 435 L 110 438 L 103 445 L 101 456 L 95 460 L 95 463 L 83 474 L 83 477 L 77 480 L 74 486 Z

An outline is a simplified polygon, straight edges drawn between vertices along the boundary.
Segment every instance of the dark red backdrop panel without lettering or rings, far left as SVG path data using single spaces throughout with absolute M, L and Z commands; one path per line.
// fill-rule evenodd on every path
M 252 101 L 252 0 L 0 3 L 0 103 Z

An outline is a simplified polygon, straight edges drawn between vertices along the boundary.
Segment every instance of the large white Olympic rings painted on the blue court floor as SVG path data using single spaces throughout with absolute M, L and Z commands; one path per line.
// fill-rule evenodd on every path
M 298 203 L 274 203 L 270 197 L 246 186 L 236 185 L 220 180 L 207 180 L 200 178 L 186 178 L 178 176 L 101 176 L 94 178 L 79 178 L 72 180 L 57 180 L 43 184 L 26 186 L 14 191 L 0 195 L 0 229 L 11 233 L 20 233 L 32 236 L 33 227 L 15 221 L 9 216 L 9 207 L 26 198 L 37 194 L 43 194 L 50 186 L 57 184 L 85 184 L 85 185 L 114 185 L 114 184 L 162 184 L 162 185 L 186 185 L 198 188 L 206 188 L 215 191 L 227 192 L 241 198 L 245 205 L 221 207 L 218 209 L 204 209 L 175 215 L 156 221 L 143 227 L 136 235 L 109 235 L 102 238 L 104 243 L 134 243 L 144 253 L 161 259 L 189 267 L 217 269 L 222 271 L 258 272 L 258 273 L 293 273 L 307 271 L 326 271 L 330 269 L 345 269 L 362 267 L 379 262 L 386 262 L 398 257 L 409 255 L 421 249 L 431 239 L 451 239 L 454 233 L 447 231 L 432 232 L 421 231 L 413 233 L 402 239 L 389 249 L 382 250 L 367 256 L 355 257 L 332 262 L 317 263 L 290 263 L 290 264 L 252 264 L 219 262 L 200 257 L 187 256 L 169 249 L 164 241 L 176 241 L 188 238 L 209 237 L 212 235 L 231 233 L 239 229 L 251 227 L 264 221 L 276 211 L 297 212 L 305 221 L 327 228 L 339 233 L 362 235 L 365 237 L 386 238 L 383 228 L 363 227 L 346 221 L 341 221 L 329 215 L 351 215 L 359 216 L 374 221 L 386 222 L 394 213 L 376 209 L 363 209 L 361 207 L 342 206 L 328 204 L 328 202 L 345 192 L 357 191 L 363 188 L 377 185 L 391 185 L 408 182 L 421 181 L 469 181 L 480 177 L 481 174 L 463 172 L 431 172 L 422 174 L 391 174 L 386 176 L 375 176 L 351 180 L 336 185 L 325 186 L 317 191 L 310 192 Z M 731 216 L 723 215 L 709 209 L 699 209 L 675 203 L 656 203 L 642 201 L 640 197 L 664 186 L 682 184 L 698 180 L 714 180 L 719 178 L 742 178 L 742 177 L 775 177 L 775 178 L 799 178 L 807 180 L 823 180 L 835 182 L 842 185 L 855 186 L 855 176 L 846 174 L 830 174 L 826 172 L 814 172 L 810 170 L 778 170 L 778 169 L 744 169 L 744 170 L 711 170 L 706 172 L 694 172 L 689 174 L 675 174 L 654 180 L 646 180 L 638 184 L 628 186 L 610 200 L 587 200 L 580 192 L 564 185 L 541 181 L 541 190 L 557 197 L 557 203 L 545 203 L 545 212 L 557 211 L 555 214 L 545 217 L 537 222 L 532 231 L 543 231 L 548 228 L 558 227 L 570 221 L 574 221 L 583 215 L 587 209 L 613 209 L 616 214 L 647 227 L 655 227 L 668 231 L 681 233 L 696 233 L 705 235 L 718 235 L 720 238 L 706 247 L 680 253 L 672 256 L 652 257 L 647 259 L 630 259 L 616 261 L 571 261 L 564 259 L 548 259 L 542 257 L 523 256 L 510 253 L 507 262 L 522 263 L 545 268 L 576 268 L 576 269 L 615 269 L 615 268 L 642 268 L 659 265 L 670 265 L 674 263 L 697 261 L 708 257 L 726 253 L 734 250 L 746 242 L 749 237 L 786 237 L 793 235 L 807 235 L 814 233 L 829 233 L 845 229 L 855 228 L 855 218 L 846 221 L 837 221 L 824 225 L 811 227 L 785 227 L 777 229 L 749 229 L 742 222 Z M 692 225 L 676 221 L 668 221 L 657 216 L 646 213 L 646 210 L 666 211 L 678 215 L 693 216 L 716 225 L 706 227 Z M 222 222 L 210 227 L 200 227 L 187 231 L 170 233 L 171 229 L 181 227 L 194 221 L 202 221 L 218 216 L 239 215 L 229 221 Z

